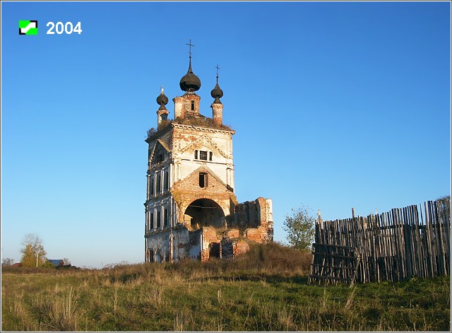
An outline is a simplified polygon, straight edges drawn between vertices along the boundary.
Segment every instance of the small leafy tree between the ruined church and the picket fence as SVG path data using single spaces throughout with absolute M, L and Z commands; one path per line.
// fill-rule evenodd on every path
M 309 250 L 314 241 L 315 218 L 309 214 L 307 207 L 297 210 L 292 208 L 292 214 L 285 216 L 284 230 L 287 232 L 289 245 L 298 250 Z

